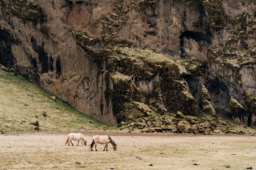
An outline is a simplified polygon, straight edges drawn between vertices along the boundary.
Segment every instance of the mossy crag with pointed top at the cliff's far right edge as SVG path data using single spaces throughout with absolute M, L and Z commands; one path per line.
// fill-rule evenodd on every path
M 245 11 L 232 22 L 231 34 L 221 51 L 211 45 L 207 52 L 208 62 L 216 65 L 218 72 L 227 79 L 241 81 L 240 70 L 248 64 L 256 64 L 256 19 Z M 230 74 L 231 73 L 231 74 Z

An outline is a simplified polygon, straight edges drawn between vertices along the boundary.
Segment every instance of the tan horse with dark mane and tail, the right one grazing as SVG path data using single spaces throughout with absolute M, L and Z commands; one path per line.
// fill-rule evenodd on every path
M 105 135 L 105 136 L 99 136 L 99 135 L 96 135 L 96 136 L 94 136 L 94 137 L 92 137 L 92 144 L 90 145 L 90 149 L 91 149 L 91 151 L 92 151 L 92 148 L 93 148 L 93 146 L 94 146 L 94 144 L 95 144 L 95 150 L 97 151 L 97 144 L 105 144 L 105 148 L 107 148 L 106 149 L 106 151 L 108 151 L 108 144 L 110 143 L 110 144 L 112 144 L 112 146 L 113 146 L 113 149 L 116 151 L 117 150 L 117 144 L 115 143 L 115 141 L 110 137 L 110 136 L 108 136 L 108 135 Z M 105 148 L 104 148 L 104 150 L 103 151 L 105 151 Z

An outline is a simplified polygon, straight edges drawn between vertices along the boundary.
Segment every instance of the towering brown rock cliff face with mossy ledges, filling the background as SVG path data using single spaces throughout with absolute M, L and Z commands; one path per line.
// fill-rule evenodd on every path
M 255 128 L 255 11 L 255 0 L 0 0 L 0 64 L 106 124 L 181 111 Z

